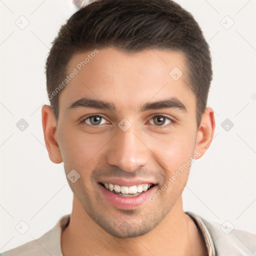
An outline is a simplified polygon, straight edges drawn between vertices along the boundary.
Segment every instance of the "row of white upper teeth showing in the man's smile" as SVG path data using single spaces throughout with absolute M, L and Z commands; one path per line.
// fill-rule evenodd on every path
M 133 194 L 137 195 L 141 193 L 142 191 L 146 191 L 151 184 L 139 184 L 139 185 L 132 185 L 132 186 L 121 186 L 117 184 L 112 184 L 112 183 L 103 183 L 105 188 L 116 192 L 116 193 L 122 193 L 122 194 Z

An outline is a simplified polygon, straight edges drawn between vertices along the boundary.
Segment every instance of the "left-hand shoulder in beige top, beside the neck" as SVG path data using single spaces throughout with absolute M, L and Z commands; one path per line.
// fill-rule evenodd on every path
M 68 223 L 69 216 L 70 214 L 62 216 L 54 227 L 39 238 L 6 250 L 0 253 L 0 256 L 62 256 L 60 245 L 61 230 Z

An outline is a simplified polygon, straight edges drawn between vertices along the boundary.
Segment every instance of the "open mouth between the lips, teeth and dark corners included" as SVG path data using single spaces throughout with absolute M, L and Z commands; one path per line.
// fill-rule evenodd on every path
M 101 186 L 103 186 L 106 190 L 122 196 L 136 196 L 149 190 L 151 187 L 155 185 L 151 183 L 143 183 L 143 184 L 132 185 L 132 186 L 122 186 L 122 185 L 112 184 L 112 183 L 101 183 L 101 182 L 98 182 L 98 183 Z

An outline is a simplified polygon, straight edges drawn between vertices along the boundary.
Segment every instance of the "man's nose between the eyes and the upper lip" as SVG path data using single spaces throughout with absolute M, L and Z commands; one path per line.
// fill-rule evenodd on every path
M 117 127 L 115 136 L 109 141 L 111 146 L 107 153 L 107 162 L 129 172 L 145 166 L 149 158 L 149 149 L 138 134 L 133 125 L 126 131 Z

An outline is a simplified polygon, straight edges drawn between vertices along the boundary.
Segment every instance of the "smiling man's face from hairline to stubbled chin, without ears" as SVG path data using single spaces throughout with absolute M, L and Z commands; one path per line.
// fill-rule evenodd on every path
M 142 235 L 180 198 L 195 155 L 186 59 L 170 50 L 105 48 L 79 65 L 88 54 L 73 55 L 67 73 L 77 73 L 59 95 L 58 149 L 65 174 L 79 177 L 67 181 L 105 231 Z

